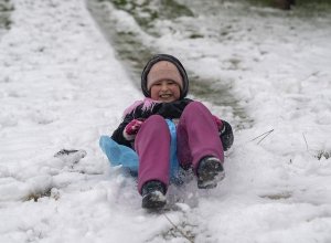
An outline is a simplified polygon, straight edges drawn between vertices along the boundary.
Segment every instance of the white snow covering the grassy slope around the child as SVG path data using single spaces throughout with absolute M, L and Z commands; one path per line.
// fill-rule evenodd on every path
M 254 120 L 235 130 L 216 189 L 171 187 L 181 210 L 151 214 L 98 148 L 141 94 L 85 2 L 12 2 L 0 36 L 0 242 L 331 242 L 330 17 L 238 17 L 226 4 L 196 21 L 158 21 L 160 38 L 141 36 L 196 75 L 227 82 Z M 194 2 L 193 12 L 204 8 Z M 87 156 L 65 162 L 53 157 L 62 148 Z

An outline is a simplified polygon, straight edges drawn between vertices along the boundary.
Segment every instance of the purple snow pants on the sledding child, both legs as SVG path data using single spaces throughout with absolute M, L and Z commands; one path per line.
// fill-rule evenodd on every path
M 150 180 L 169 184 L 170 131 L 164 118 L 152 115 L 142 124 L 135 141 L 139 156 L 138 190 Z M 222 162 L 224 154 L 217 125 L 210 110 L 200 102 L 190 103 L 177 126 L 178 159 L 183 168 L 196 172 L 199 161 L 214 156 Z

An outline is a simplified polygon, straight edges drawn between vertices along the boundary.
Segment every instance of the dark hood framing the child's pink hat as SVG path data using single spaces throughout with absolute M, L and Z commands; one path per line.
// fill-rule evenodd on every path
M 142 91 L 143 95 L 146 97 L 150 97 L 150 91 L 148 91 L 148 88 L 147 88 L 147 76 L 148 76 L 148 73 L 151 70 L 151 67 L 157 62 L 160 62 L 160 61 L 168 61 L 168 62 L 173 63 L 177 66 L 178 71 L 180 72 L 180 75 L 182 76 L 182 86 L 181 86 L 180 98 L 184 98 L 189 92 L 189 78 L 188 78 L 186 71 L 177 57 L 174 57 L 172 55 L 168 55 L 168 54 L 157 54 L 151 60 L 149 60 L 148 63 L 146 64 L 142 73 L 141 73 L 141 91 Z

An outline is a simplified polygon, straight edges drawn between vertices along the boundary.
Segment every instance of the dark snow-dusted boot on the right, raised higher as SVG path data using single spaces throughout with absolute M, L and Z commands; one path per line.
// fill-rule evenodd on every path
M 225 177 L 221 160 L 213 156 L 207 156 L 200 160 L 196 175 L 197 188 L 200 189 L 215 188 L 217 182 Z

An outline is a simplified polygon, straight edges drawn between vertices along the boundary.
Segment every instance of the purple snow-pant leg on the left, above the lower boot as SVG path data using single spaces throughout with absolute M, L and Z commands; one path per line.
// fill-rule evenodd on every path
M 135 141 L 139 156 L 138 190 L 150 180 L 169 183 L 170 133 L 163 117 L 150 116 L 141 126 Z

